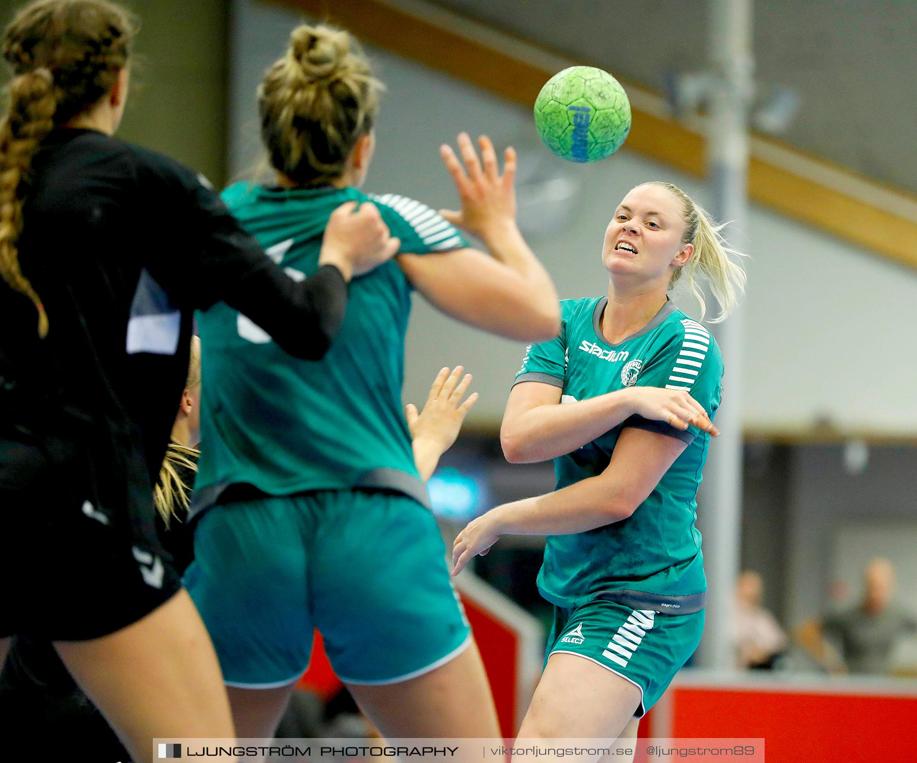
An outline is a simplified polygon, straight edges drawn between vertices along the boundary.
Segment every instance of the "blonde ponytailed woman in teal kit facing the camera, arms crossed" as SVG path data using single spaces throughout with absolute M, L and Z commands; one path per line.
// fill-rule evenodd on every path
M 538 589 L 554 628 L 520 738 L 635 737 L 700 642 L 695 496 L 723 360 L 667 293 L 683 279 L 703 308 L 700 271 L 729 312 L 745 273 L 718 231 L 675 186 L 638 185 L 605 232 L 607 296 L 565 300 L 560 334 L 516 375 L 503 452 L 554 459 L 557 487 L 471 522 L 453 558 L 457 574 L 499 536 L 547 536 Z

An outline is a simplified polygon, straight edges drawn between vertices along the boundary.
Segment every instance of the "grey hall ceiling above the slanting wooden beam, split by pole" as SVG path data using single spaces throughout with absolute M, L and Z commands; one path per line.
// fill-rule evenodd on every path
M 433 1 L 657 92 L 704 65 L 702 0 Z M 757 0 L 754 37 L 757 82 L 800 98 L 780 140 L 917 194 L 915 0 Z

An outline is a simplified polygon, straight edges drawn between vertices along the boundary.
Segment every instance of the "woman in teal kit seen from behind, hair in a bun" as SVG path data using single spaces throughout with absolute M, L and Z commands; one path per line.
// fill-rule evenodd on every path
M 401 240 L 396 260 L 350 283 L 344 324 L 319 361 L 291 358 L 226 304 L 198 317 L 203 447 L 185 582 L 240 736 L 271 735 L 315 627 L 383 735 L 499 734 L 425 506 L 442 443 L 412 442 L 401 407 L 404 334 L 412 290 L 470 326 L 528 341 L 557 334 L 558 298 L 515 225 L 512 149 L 501 173 L 487 138 L 479 157 L 459 136 L 461 161 L 444 147 L 460 212 L 359 191 L 378 88 L 346 32 L 296 28 L 259 91 L 277 182 L 223 194 L 294 278 L 315 271 L 342 203 L 371 201 Z

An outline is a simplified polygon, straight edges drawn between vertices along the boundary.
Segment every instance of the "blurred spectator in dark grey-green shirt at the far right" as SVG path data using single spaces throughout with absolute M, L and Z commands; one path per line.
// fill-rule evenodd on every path
M 895 646 L 903 636 L 917 633 L 917 618 L 891 603 L 895 571 L 888 559 L 872 559 L 863 584 L 862 601 L 825 615 L 822 634 L 837 647 L 849 672 L 888 675 Z

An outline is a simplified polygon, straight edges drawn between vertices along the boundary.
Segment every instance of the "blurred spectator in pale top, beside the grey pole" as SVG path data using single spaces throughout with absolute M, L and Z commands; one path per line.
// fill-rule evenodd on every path
M 735 658 L 745 669 L 772 669 L 787 647 L 787 636 L 773 614 L 761 606 L 764 587 L 757 572 L 745 571 L 735 586 Z

